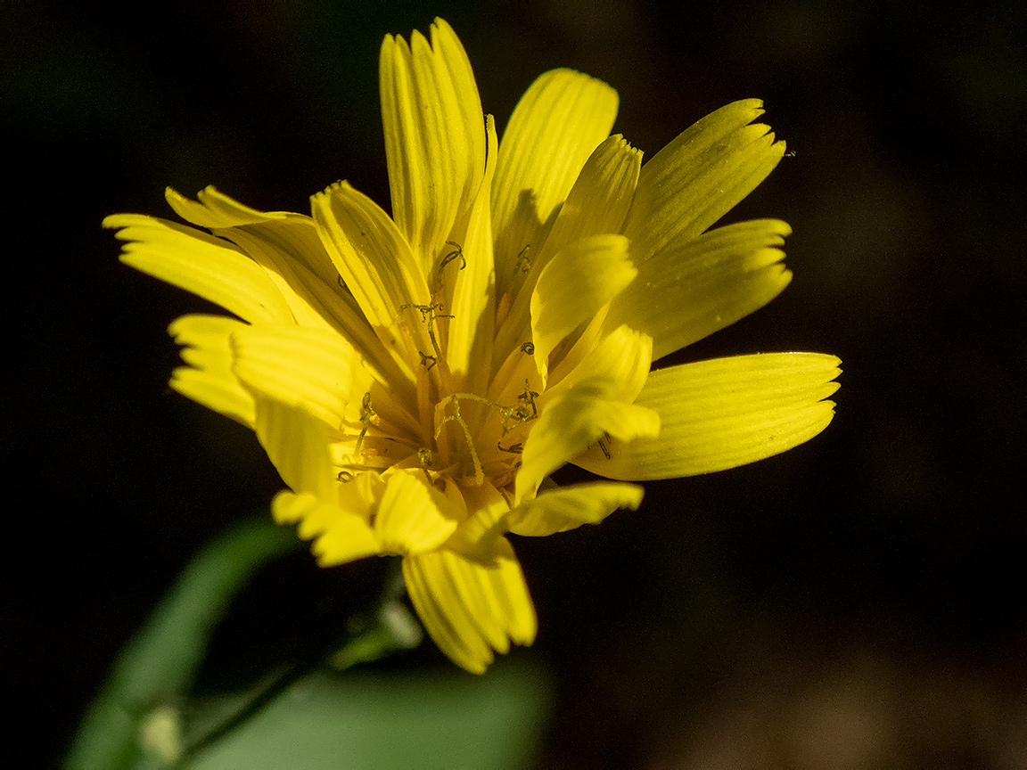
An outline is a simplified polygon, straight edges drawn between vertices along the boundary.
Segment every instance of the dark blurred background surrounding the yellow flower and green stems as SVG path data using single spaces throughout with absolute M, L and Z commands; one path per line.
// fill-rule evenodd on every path
M 167 323 L 208 306 L 120 266 L 101 220 L 172 216 L 165 185 L 304 211 L 345 178 L 387 205 L 378 46 L 436 14 L 500 126 L 557 66 L 614 85 L 648 155 L 764 99 L 794 156 L 729 220 L 790 222 L 795 279 L 676 360 L 845 370 L 809 444 L 516 542 L 541 630 L 514 657 L 549 693 L 535 767 L 1023 767 L 1027 30 L 997 0 L 5 0 L 12 756 L 58 761 L 190 555 L 280 487 L 252 434 L 166 387 Z M 214 667 L 331 636 L 381 575 L 276 566 Z M 380 669 L 447 665 L 426 644 Z

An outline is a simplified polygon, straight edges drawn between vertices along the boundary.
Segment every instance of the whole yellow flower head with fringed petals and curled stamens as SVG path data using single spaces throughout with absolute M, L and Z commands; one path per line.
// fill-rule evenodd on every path
M 105 226 L 122 261 L 238 319 L 187 315 L 172 387 L 254 428 L 290 490 L 273 504 L 322 565 L 400 554 L 414 607 L 470 671 L 535 637 L 506 534 L 548 535 L 637 508 L 638 486 L 557 488 L 571 462 L 667 478 L 784 452 L 830 422 L 838 359 L 650 364 L 789 282 L 790 228 L 709 228 L 784 154 L 761 103 L 728 105 L 645 166 L 609 136 L 617 94 L 543 74 L 498 142 L 466 53 L 382 45 L 392 217 L 345 182 L 312 216 L 214 188 L 167 201 L 207 232 L 141 215 Z M 241 320 L 239 320 L 241 319 Z

